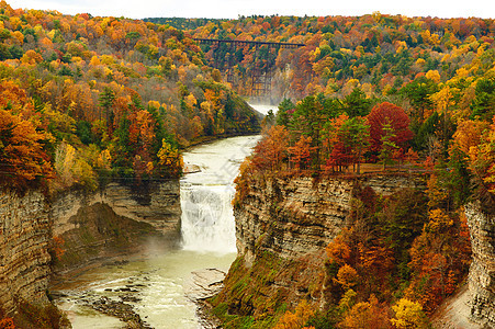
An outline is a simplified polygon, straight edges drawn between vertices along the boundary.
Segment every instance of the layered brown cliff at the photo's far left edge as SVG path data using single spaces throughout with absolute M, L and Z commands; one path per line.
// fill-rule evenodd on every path
M 15 300 L 47 304 L 50 274 L 49 206 L 40 192 L 19 196 L 0 191 L 0 306 L 11 314 Z

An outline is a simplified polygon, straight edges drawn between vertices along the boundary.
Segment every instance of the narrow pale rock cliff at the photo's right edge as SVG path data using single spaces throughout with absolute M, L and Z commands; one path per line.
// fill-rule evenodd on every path
M 495 215 L 479 204 L 465 207 L 471 232 L 473 261 L 469 274 L 471 317 L 486 328 L 495 328 Z

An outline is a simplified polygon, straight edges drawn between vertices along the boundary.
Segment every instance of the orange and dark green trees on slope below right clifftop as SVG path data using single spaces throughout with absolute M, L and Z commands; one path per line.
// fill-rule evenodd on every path
M 440 208 L 452 195 L 437 184 L 426 195 L 358 193 L 350 227 L 326 248 L 339 327 L 427 328 L 427 315 L 462 284 L 471 259 L 465 217 Z

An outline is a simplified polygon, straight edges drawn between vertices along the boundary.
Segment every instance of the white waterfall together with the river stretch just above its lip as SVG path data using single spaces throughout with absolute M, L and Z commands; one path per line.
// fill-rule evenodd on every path
M 184 250 L 236 252 L 232 200 L 234 179 L 259 136 L 239 136 L 194 147 L 184 163 L 194 168 L 180 184 L 181 235 Z

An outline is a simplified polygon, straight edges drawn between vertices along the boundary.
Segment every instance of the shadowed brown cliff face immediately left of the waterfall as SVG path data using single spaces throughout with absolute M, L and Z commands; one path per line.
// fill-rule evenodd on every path
M 64 241 L 56 270 L 139 251 L 149 239 L 168 247 L 180 238 L 179 181 L 140 189 L 110 183 L 88 194 L 71 191 L 54 197 L 54 236 Z

